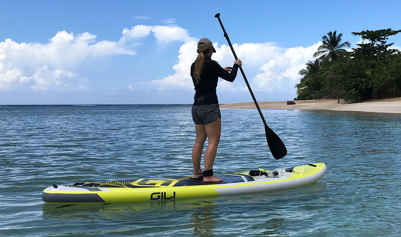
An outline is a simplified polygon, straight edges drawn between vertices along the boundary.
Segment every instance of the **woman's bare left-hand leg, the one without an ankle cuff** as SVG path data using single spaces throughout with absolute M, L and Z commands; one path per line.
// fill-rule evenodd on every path
M 195 124 L 196 141 L 192 148 L 192 164 L 194 165 L 194 177 L 202 177 L 202 175 L 196 175 L 202 173 L 201 170 L 201 157 L 203 151 L 203 145 L 205 144 L 207 134 L 205 125 Z

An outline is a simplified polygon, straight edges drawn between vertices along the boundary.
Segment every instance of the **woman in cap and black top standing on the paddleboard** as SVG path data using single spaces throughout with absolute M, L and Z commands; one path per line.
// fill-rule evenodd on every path
M 223 179 L 213 176 L 213 163 L 221 133 L 221 114 L 216 87 L 219 77 L 233 82 L 242 62 L 238 59 L 232 67 L 222 68 L 216 61 L 211 60 L 216 50 L 207 38 L 199 40 L 197 52 L 198 57 L 191 66 L 191 77 L 195 87 L 192 120 L 196 131 L 196 141 L 192 149 L 193 177 L 203 177 L 203 182 L 221 182 Z M 209 139 L 209 145 L 205 152 L 205 171 L 202 173 L 201 156 L 206 138 Z

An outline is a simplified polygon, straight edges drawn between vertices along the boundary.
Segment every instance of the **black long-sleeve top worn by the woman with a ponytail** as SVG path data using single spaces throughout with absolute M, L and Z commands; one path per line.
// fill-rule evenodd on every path
M 195 62 L 191 65 L 191 77 L 195 87 L 194 105 L 218 104 L 219 100 L 217 100 L 216 87 L 219 77 L 233 82 L 237 76 L 238 64 L 234 64 L 233 70 L 227 72 L 218 62 L 205 55 L 201 81 L 197 83 L 194 76 Z

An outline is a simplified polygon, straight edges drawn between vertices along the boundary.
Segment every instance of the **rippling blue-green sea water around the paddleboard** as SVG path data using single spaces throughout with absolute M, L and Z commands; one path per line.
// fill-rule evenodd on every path
M 401 234 L 400 115 L 262 111 L 288 155 L 271 157 L 257 110 L 221 109 L 214 171 L 324 162 L 320 181 L 234 197 L 60 207 L 43 203 L 43 189 L 191 175 L 190 106 L 1 106 L 0 236 Z

